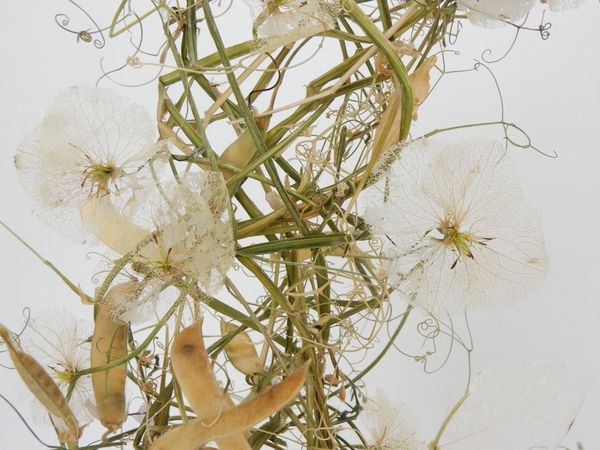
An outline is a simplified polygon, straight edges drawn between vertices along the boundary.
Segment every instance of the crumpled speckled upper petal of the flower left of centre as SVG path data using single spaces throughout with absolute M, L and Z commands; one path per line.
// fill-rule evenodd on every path
M 161 185 L 160 192 L 143 199 L 155 211 L 156 239 L 137 261 L 154 277 L 188 276 L 208 291 L 218 289 L 235 254 L 227 199 L 215 172 L 188 172 Z

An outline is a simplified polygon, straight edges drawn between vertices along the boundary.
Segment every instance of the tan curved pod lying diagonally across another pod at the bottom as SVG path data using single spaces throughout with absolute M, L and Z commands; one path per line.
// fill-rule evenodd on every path
M 190 420 L 157 439 L 149 450 L 196 450 L 208 441 L 238 434 L 290 403 L 304 385 L 309 362 L 271 389 L 217 415 Z M 221 447 L 222 449 L 222 447 Z

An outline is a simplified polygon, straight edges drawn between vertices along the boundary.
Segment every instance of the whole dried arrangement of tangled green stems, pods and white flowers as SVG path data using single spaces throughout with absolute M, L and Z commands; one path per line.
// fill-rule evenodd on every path
M 538 12 L 582 3 L 123 0 L 85 31 L 58 15 L 82 45 L 134 52 L 102 87 L 65 86 L 14 156 L 37 217 L 104 249 L 95 292 L 49 264 L 87 322 L 55 309 L 0 325 L 51 448 L 560 444 L 591 384 L 569 366 L 469 378 L 434 436 L 367 378 L 410 335 L 469 353 L 453 317 L 544 282 L 542 225 L 510 156 L 541 151 L 504 119 L 414 123 L 462 26 L 546 39 Z M 155 117 L 106 87 L 136 69 L 154 71 Z M 473 127 L 505 139 L 455 138 Z

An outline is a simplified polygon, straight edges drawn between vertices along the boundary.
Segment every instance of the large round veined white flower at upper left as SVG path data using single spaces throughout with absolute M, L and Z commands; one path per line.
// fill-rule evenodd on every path
M 88 234 L 79 211 L 102 198 L 121 210 L 150 179 L 155 143 L 148 113 L 111 89 L 75 86 L 60 93 L 44 121 L 20 143 L 17 176 L 40 219 L 60 234 Z

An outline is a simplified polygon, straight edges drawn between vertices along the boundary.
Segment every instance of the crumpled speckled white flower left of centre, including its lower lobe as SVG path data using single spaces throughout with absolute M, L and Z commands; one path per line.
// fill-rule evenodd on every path
M 178 180 L 145 190 L 138 201 L 144 205 L 143 210 L 140 208 L 144 214 L 127 219 L 100 217 L 110 211 L 94 210 L 94 221 L 109 223 L 115 219 L 121 224 L 120 235 L 110 232 L 99 236 L 107 244 L 118 240 L 122 253 L 133 250 L 141 238 L 151 236 L 132 260 L 133 269 L 145 276 L 146 288 L 135 303 L 120 305 L 118 319 L 125 322 L 147 318 L 163 283 L 194 281 L 205 291 L 215 292 L 235 257 L 227 209 L 229 194 L 220 173 L 182 174 Z M 129 240 L 125 242 L 119 236 L 129 236 Z M 140 309 L 142 306 L 146 312 Z

